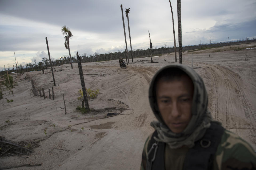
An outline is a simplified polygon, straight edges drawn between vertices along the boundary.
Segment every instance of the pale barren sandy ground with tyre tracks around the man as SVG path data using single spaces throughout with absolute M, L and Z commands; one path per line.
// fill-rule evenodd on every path
M 38 147 L 30 156 L 1 157 L 0 167 L 41 163 L 15 169 L 139 169 L 144 142 L 153 132 L 150 122 L 155 119 L 148 101 L 149 83 L 159 68 L 174 63 L 174 54 L 153 60 L 158 63 L 136 58 L 127 69 L 121 69 L 117 60 L 82 63 L 86 87 L 100 91 L 89 100 L 93 110 L 88 114 L 75 110 L 81 89 L 77 63 L 74 69 L 69 64 L 62 71 L 61 66 L 55 67 L 55 101 L 48 94 L 53 86 L 50 69 L 45 74 L 19 75 L 14 97 L 5 90 L 0 100 L 0 134 L 14 142 L 37 142 Z M 183 64 L 192 66 L 191 52 L 183 53 Z M 234 51 L 229 46 L 193 52 L 193 66 L 205 81 L 213 118 L 256 150 L 256 49 Z M 37 89 L 45 89 L 46 99 L 33 97 L 31 79 Z M 5 98 L 14 101 L 7 103 Z

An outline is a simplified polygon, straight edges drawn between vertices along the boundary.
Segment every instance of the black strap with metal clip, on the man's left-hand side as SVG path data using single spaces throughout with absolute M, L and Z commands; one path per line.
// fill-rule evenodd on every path
M 155 141 L 157 131 L 155 130 L 147 146 L 148 156 L 146 170 L 165 169 L 165 143 Z

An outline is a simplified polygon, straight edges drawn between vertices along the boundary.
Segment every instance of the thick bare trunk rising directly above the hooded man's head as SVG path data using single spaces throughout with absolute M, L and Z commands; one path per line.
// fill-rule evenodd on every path
M 178 11 L 178 34 L 179 34 L 179 63 L 182 64 L 181 0 L 177 0 L 177 11 Z

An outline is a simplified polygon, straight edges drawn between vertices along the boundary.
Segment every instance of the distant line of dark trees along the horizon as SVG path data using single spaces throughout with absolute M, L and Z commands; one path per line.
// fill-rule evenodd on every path
M 210 43 L 210 44 L 198 44 L 198 45 L 187 45 L 182 47 L 182 51 L 188 51 L 188 50 L 196 50 L 196 49 L 202 49 L 202 48 L 217 48 L 227 45 L 239 45 L 239 44 L 250 44 L 252 42 L 255 42 L 256 39 L 249 40 L 246 38 L 246 40 L 238 40 L 238 41 L 229 41 L 229 42 L 222 42 L 222 43 Z M 178 46 L 176 46 L 176 49 L 178 50 Z M 174 46 L 170 47 L 165 44 L 165 46 L 162 47 L 155 47 L 152 48 L 152 56 L 158 56 L 159 54 L 168 54 L 168 53 L 174 53 L 175 49 Z M 117 60 L 119 58 L 126 58 L 127 53 L 125 51 L 118 51 L 118 52 L 110 52 L 110 53 L 94 53 L 87 55 L 86 53 L 82 54 L 81 56 L 81 62 L 96 62 L 96 61 L 109 61 L 109 60 Z M 131 51 L 128 52 L 129 58 L 131 56 Z M 150 57 L 150 48 L 148 49 L 137 49 L 132 51 L 133 58 L 143 58 L 143 57 Z M 71 57 L 72 62 L 77 62 L 77 57 L 74 55 Z M 61 58 L 57 60 L 51 61 L 53 66 L 61 66 L 61 64 L 69 64 L 70 59 L 69 56 L 62 56 Z M 31 63 L 26 63 L 25 65 L 19 64 L 17 65 L 18 68 L 18 74 L 22 74 L 27 71 L 37 71 L 42 69 L 48 69 L 50 66 L 49 58 L 42 58 L 42 62 L 36 62 L 36 60 L 32 61 Z M 8 65 L 6 68 L 8 73 L 11 73 L 13 71 L 17 71 L 17 69 L 14 67 L 11 67 Z M 2 70 L 0 72 L 0 75 L 4 75 L 6 72 L 5 70 Z

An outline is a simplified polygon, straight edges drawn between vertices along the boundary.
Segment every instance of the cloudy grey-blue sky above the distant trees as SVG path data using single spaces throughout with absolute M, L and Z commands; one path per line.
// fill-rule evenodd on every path
M 177 1 L 171 0 L 178 42 Z M 133 49 L 174 45 L 168 0 L 0 0 L 0 70 L 13 65 L 68 55 L 61 27 L 70 28 L 71 56 L 125 49 L 121 7 L 130 8 Z M 182 45 L 256 38 L 255 0 L 181 0 Z M 130 49 L 127 18 L 125 29 Z

